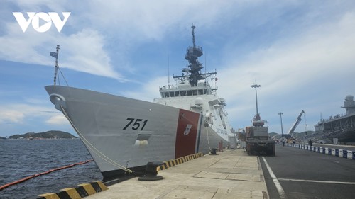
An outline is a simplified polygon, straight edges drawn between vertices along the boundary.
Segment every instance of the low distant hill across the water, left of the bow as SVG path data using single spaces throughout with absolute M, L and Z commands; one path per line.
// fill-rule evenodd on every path
M 27 132 L 25 134 L 16 134 L 9 136 L 9 139 L 72 139 L 77 138 L 69 132 L 60 130 L 50 130 L 46 132 Z

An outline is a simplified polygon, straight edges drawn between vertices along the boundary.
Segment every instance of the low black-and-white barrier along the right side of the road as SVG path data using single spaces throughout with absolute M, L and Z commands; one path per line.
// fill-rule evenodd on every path
M 335 157 L 342 157 L 346 159 L 355 159 L 355 151 L 345 150 L 345 149 L 332 149 L 329 147 L 317 147 L 305 144 L 285 144 L 288 147 L 295 147 L 298 149 L 305 149 L 312 152 L 318 152 L 321 154 L 328 154 Z

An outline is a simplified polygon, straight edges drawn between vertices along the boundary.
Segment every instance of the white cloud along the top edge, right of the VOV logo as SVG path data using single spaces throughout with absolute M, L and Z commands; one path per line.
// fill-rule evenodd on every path
M 170 31 L 180 32 L 185 24 L 208 25 L 230 8 L 224 1 L 99 1 L 89 2 L 89 23 L 114 31 L 119 40 L 129 42 L 160 40 Z M 208 14 L 204 11 L 208 10 Z M 108 14 L 109 13 L 109 14 Z M 184 25 L 182 25 L 184 24 Z M 174 27 L 174 28 L 173 28 Z M 172 29 L 173 28 L 173 29 Z

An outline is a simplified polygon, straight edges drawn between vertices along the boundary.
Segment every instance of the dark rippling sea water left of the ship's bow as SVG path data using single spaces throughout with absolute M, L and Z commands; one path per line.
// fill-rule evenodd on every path
M 89 159 L 92 157 L 79 139 L 0 140 L 0 186 Z M 101 180 L 99 168 L 90 161 L 5 188 L 0 198 L 38 198 L 43 193 Z

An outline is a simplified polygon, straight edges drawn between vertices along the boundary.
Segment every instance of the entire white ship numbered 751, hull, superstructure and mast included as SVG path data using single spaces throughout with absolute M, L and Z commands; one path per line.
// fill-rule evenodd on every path
M 197 58 L 202 48 L 188 47 L 175 86 L 160 87 L 153 103 L 70 86 L 45 86 L 50 101 L 60 110 L 80 136 L 104 176 L 109 181 L 145 168 L 149 161 L 168 161 L 189 154 L 209 153 L 222 142 L 226 147 L 231 133 L 217 89 L 209 82 L 216 72 L 201 73 Z M 56 57 L 57 53 L 50 55 Z M 58 64 L 56 64 L 56 71 Z

